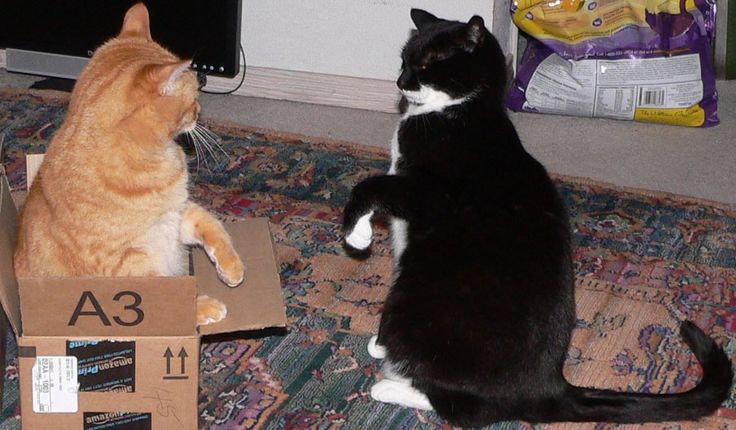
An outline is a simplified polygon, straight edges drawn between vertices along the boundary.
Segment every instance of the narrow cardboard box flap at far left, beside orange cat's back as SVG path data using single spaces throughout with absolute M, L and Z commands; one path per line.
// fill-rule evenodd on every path
M 0 302 L 16 336 L 21 333 L 18 283 L 13 270 L 17 217 L 8 178 L 0 166 Z

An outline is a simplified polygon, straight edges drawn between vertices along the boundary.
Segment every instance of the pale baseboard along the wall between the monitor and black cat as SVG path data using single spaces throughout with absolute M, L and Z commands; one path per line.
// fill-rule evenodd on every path
M 0 49 L 0 68 L 6 64 L 5 50 Z M 241 77 L 210 77 L 205 89 L 230 91 Z M 233 94 L 390 113 L 398 111 L 399 98 L 393 81 L 253 66 L 247 68 L 243 86 Z

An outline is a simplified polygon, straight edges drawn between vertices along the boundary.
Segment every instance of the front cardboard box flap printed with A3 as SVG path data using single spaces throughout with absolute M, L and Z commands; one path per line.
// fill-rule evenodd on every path
M 18 285 L 23 336 L 197 335 L 193 276 L 18 278 Z

